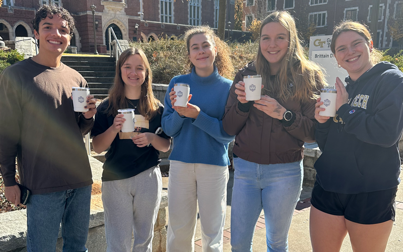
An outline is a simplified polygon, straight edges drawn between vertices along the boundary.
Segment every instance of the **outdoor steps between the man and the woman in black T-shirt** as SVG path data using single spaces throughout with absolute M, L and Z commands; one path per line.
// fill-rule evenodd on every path
M 109 56 L 62 56 L 61 61 L 79 72 L 95 98 L 105 99 L 115 78 L 115 58 Z

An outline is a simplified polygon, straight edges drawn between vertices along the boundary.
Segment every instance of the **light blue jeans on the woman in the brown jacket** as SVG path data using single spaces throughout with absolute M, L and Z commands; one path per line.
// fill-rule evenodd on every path
M 267 251 L 288 251 L 288 230 L 302 191 L 302 160 L 265 165 L 236 157 L 234 168 L 232 251 L 252 251 L 253 233 L 262 208 Z

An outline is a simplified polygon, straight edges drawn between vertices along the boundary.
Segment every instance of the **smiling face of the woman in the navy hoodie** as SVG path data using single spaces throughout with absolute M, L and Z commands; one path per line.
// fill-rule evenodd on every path
M 337 37 L 334 44 L 334 57 L 338 64 L 347 70 L 353 81 L 373 67 L 370 56 L 372 40 L 368 42 L 357 32 L 346 31 Z

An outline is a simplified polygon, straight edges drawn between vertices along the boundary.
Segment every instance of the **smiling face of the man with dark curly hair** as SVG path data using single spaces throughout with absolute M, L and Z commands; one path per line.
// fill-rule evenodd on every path
M 61 54 L 70 45 L 69 23 L 57 14 L 48 16 L 34 30 L 35 38 L 40 41 L 41 54 Z

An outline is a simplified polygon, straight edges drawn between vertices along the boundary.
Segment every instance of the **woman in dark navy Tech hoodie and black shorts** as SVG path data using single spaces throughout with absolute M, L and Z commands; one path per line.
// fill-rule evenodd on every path
M 331 40 L 339 67 L 337 114 L 320 116 L 315 138 L 322 155 L 315 163 L 310 235 L 313 251 L 340 251 L 347 232 L 354 251 L 385 251 L 400 182 L 398 142 L 403 131 L 403 73 L 379 62 L 367 28 L 345 21 Z M 379 63 L 377 63 L 379 62 Z

